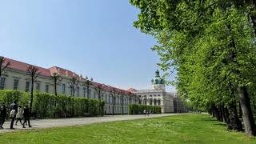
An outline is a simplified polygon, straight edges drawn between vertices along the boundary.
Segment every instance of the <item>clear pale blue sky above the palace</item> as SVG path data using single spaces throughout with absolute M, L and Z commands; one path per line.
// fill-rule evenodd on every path
M 0 55 L 148 89 L 158 56 L 154 38 L 133 27 L 138 12 L 129 0 L 1 1 Z

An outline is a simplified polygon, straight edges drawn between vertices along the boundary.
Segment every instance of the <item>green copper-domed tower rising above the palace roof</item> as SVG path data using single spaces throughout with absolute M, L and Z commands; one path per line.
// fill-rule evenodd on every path
M 151 80 L 151 82 L 151 87 L 153 90 L 166 90 L 165 80 L 160 77 L 158 70 L 155 72 L 155 77 Z

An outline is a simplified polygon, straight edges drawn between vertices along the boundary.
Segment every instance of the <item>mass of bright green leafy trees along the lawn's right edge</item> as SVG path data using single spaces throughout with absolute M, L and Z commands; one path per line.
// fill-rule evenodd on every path
M 166 78 L 177 70 L 178 93 L 219 121 L 255 135 L 250 94 L 255 91 L 254 1 L 130 0 L 141 10 L 134 26 L 158 39 Z M 249 16 L 249 17 L 248 17 Z M 175 73 L 175 72 L 174 72 Z M 250 92 L 250 93 L 249 93 Z

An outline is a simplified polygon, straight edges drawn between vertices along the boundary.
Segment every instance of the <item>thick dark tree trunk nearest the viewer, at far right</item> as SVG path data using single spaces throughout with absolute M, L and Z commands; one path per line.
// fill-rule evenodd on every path
M 244 122 L 246 134 L 255 136 L 254 115 L 250 107 L 250 98 L 245 86 L 238 87 L 238 96 L 242 108 L 242 119 Z

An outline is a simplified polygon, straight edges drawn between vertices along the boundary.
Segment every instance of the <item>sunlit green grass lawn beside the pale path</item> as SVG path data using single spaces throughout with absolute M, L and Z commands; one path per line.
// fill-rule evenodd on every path
M 0 134 L 0 143 L 256 143 L 207 114 L 186 114 Z

